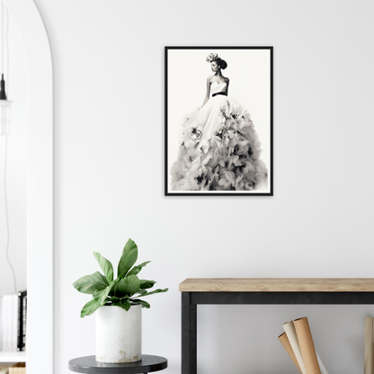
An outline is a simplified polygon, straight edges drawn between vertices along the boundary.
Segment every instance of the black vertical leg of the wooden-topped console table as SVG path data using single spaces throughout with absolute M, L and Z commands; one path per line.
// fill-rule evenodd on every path
M 182 374 L 197 374 L 197 306 L 182 292 Z

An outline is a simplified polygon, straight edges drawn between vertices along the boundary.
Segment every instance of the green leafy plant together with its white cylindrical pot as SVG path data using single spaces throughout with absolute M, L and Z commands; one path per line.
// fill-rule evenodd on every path
M 138 259 L 138 246 L 129 239 L 123 248 L 114 278 L 111 262 L 94 252 L 102 272 L 76 280 L 73 286 L 93 296 L 82 308 L 81 317 L 96 311 L 96 361 L 106 363 L 141 361 L 141 309 L 150 305 L 142 298 L 166 292 L 168 289 L 149 291 L 156 281 L 140 280 L 138 273 L 147 263 L 134 266 Z

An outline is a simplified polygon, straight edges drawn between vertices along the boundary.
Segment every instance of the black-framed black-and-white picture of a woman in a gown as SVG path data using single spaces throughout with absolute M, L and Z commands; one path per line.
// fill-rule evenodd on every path
M 272 47 L 165 47 L 165 195 L 273 195 Z

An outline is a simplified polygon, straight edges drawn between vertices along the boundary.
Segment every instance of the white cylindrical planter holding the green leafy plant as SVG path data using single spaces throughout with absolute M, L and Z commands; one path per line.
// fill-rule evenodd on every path
M 129 311 L 99 307 L 95 315 L 96 361 L 141 361 L 141 305 L 132 305 Z

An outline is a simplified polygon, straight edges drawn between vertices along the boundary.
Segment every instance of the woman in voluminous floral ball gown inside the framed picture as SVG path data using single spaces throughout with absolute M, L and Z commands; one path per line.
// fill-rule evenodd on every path
M 211 53 L 202 107 L 187 115 L 178 159 L 172 166 L 174 191 L 251 191 L 267 184 L 261 144 L 248 111 L 227 97 L 225 60 Z M 211 94 L 211 96 L 210 96 Z

